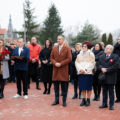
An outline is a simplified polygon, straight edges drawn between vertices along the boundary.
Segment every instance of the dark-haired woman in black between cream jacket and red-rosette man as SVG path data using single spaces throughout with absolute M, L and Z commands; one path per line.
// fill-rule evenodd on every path
M 96 61 L 96 71 L 95 71 L 94 79 L 93 79 L 93 90 L 94 90 L 93 100 L 99 101 L 100 100 L 100 93 L 101 93 L 101 84 L 99 83 L 99 80 L 98 80 L 98 76 L 100 74 L 100 71 L 97 68 L 98 68 L 99 57 L 104 53 L 101 44 L 98 43 L 95 45 L 93 53 L 95 55 L 95 61 Z

